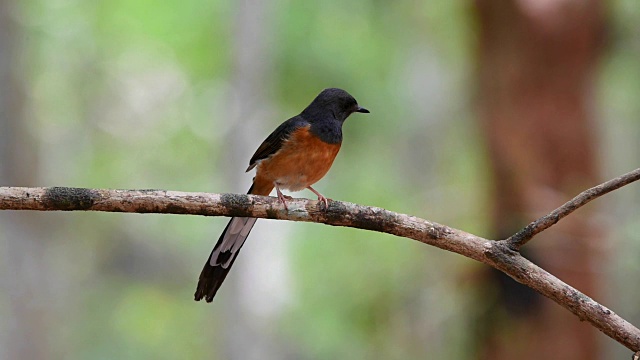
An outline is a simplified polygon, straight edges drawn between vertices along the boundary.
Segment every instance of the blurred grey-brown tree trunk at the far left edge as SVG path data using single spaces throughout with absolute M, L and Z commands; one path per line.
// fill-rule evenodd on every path
M 15 5 L 0 0 L 0 184 L 38 186 L 37 139 L 25 116 L 21 26 Z M 46 215 L 45 215 L 46 216 Z M 43 214 L 0 217 L 0 359 L 50 359 L 51 273 Z

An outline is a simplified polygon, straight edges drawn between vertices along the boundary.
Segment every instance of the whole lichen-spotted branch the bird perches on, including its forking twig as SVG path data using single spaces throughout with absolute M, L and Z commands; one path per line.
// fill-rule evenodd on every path
M 635 175 L 630 175 L 635 174 Z M 331 201 L 328 209 L 317 201 L 294 199 L 286 211 L 276 198 L 257 195 L 208 194 L 165 190 L 106 190 L 82 188 L 0 187 L 0 210 L 107 211 L 204 216 L 246 216 L 317 222 L 378 231 L 406 237 L 452 251 L 490 265 L 560 304 L 580 320 L 615 339 L 632 351 L 640 351 L 640 330 L 580 291 L 525 259 L 514 248 L 553 225 L 588 201 L 615 190 L 640 176 L 640 169 L 578 195 L 546 217 L 527 226 L 526 235 L 493 241 L 415 216 L 377 207 Z M 553 215 L 556 214 L 557 215 Z M 551 220 L 543 220 L 547 217 Z M 556 218 L 553 218 L 556 216 Z M 555 220 L 555 221 L 554 221 Z M 534 225 L 538 224 L 538 225 Z M 527 240 L 524 240 L 526 242 Z

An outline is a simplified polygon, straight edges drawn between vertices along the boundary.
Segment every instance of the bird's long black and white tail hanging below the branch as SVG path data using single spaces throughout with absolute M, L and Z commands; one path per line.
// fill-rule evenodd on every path
M 251 186 L 248 194 L 256 194 L 255 183 Z M 271 189 L 264 194 L 265 189 L 259 189 L 258 195 L 269 195 Z M 224 228 L 222 235 L 218 238 L 216 246 L 214 246 L 209 255 L 209 259 L 200 273 L 198 287 L 194 294 L 196 301 L 205 299 L 207 302 L 213 301 L 213 297 L 220 289 L 222 282 L 227 277 L 229 270 L 236 261 L 242 245 L 247 240 L 255 218 L 234 217 L 229 220 L 227 227 Z

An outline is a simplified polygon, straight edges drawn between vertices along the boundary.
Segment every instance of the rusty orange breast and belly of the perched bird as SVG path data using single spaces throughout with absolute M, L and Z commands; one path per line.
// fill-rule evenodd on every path
M 327 144 L 309 132 L 309 127 L 296 130 L 282 149 L 260 161 L 257 183 L 274 182 L 282 189 L 298 191 L 315 184 L 329 171 L 340 151 L 340 144 Z

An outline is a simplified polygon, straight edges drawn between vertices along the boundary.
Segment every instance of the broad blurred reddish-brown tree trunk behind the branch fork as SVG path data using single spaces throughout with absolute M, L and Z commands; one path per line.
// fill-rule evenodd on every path
M 493 229 L 505 238 L 598 182 L 593 92 L 605 9 L 598 0 L 476 0 L 478 108 L 493 173 Z M 596 300 L 606 261 L 588 209 L 526 246 Z M 494 274 L 479 358 L 596 359 L 597 331 Z

